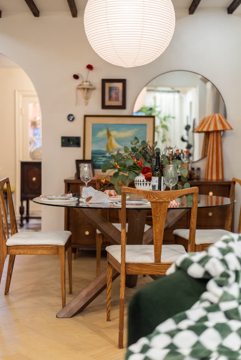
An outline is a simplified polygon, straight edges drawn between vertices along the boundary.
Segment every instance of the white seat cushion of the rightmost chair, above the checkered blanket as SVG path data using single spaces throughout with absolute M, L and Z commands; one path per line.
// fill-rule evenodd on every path
M 173 231 L 174 235 L 188 240 L 189 229 L 176 229 Z M 195 244 L 213 244 L 219 240 L 223 235 L 233 234 L 230 231 L 223 229 L 197 229 L 195 235 Z

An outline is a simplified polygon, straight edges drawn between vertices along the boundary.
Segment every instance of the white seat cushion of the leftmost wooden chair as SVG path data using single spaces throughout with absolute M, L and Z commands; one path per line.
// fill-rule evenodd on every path
M 13 245 L 65 245 L 71 235 L 70 231 L 30 231 L 12 235 L 6 242 Z

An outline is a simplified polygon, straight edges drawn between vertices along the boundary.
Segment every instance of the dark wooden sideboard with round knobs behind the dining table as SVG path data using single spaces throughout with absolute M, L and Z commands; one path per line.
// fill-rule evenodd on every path
M 74 190 L 79 193 L 80 185 L 83 182 L 80 179 L 69 178 L 65 179 L 65 192 Z M 198 186 L 199 193 L 204 195 L 216 195 L 229 197 L 231 181 L 229 180 L 193 180 L 189 181 L 191 186 Z M 96 187 L 96 181 L 92 180 L 90 186 Z M 109 217 L 111 222 L 119 222 L 118 210 L 101 210 L 102 215 Z M 197 229 L 223 229 L 227 206 L 198 209 L 197 215 Z M 174 243 L 174 235 L 172 231 L 178 228 L 189 228 L 189 215 L 186 213 L 179 219 L 171 228 L 166 229 L 164 233 L 165 243 Z M 151 211 L 147 216 L 147 224 L 152 224 Z M 95 249 L 96 247 L 96 229 L 86 219 L 76 212 L 74 209 L 65 208 L 65 230 L 70 230 L 72 233 L 72 247 L 82 249 Z M 232 222 L 233 231 L 233 222 Z M 107 246 L 108 242 L 103 243 L 103 247 Z

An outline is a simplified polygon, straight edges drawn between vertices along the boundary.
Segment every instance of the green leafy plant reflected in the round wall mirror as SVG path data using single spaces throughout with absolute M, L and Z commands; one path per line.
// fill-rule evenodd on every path
M 159 121 L 159 124 L 155 126 L 155 133 L 157 134 L 158 138 L 161 137 L 162 143 L 165 143 L 168 140 L 170 141 L 170 139 L 167 138 L 167 131 L 169 130 L 167 122 L 169 119 L 175 119 L 175 116 L 162 116 L 161 110 L 159 110 L 159 106 L 157 105 L 143 106 L 140 109 L 140 112 L 143 112 L 145 115 L 154 115 L 155 118 L 157 118 Z

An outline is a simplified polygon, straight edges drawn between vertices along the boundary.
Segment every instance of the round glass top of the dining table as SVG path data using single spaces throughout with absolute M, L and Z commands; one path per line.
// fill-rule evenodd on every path
M 170 207 L 170 209 L 188 209 L 190 207 L 192 207 L 192 201 L 187 201 L 187 196 L 188 195 L 184 195 L 181 196 L 179 198 L 177 198 L 175 201 L 176 203 L 179 205 L 178 207 Z M 68 203 L 64 203 L 64 202 L 58 202 L 58 203 L 54 203 L 54 201 L 52 202 L 46 202 L 46 201 L 41 201 L 38 198 L 34 198 L 33 201 L 35 203 L 41 204 L 41 205 L 50 205 L 50 206 L 58 206 L 58 207 L 70 207 L 70 208 L 89 208 L 89 209 L 121 209 L 121 207 L 116 206 L 114 202 L 110 202 L 110 203 L 101 203 L 101 204 L 96 204 L 96 203 L 83 203 L 79 201 L 80 198 L 80 194 L 76 194 L 76 198 L 78 198 L 77 201 L 73 201 L 73 202 L 68 202 Z M 218 207 L 218 206 L 228 206 L 231 204 L 234 204 L 236 201 L 234 199 L 229 199 L 229 198 L 225 198 L 222 196 L 209 196 L 209 195 L 198 195 L 198 208 L 208 208 L 208 207 Z M 132 209 L 132 210 L 141 210 L 143 208 L 148 210 L 151 208 L 150 205 L 132 205 L 130 207 L 128 207 L 128 209 Z

